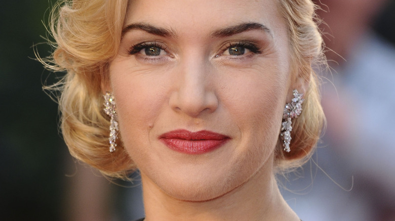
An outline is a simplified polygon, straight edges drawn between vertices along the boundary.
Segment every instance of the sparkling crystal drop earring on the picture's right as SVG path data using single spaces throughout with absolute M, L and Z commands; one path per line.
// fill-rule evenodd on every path
M 302 112 L 302 103 L 304 101 L 303 93 L 299 93 L 296 89 L 293 91 L 294 98 L 290 103 L 285 104 L 284 114 L 283 114 L 283 123 L 281 127 L 281 138 L 284 141 L 284 151 L 290 152 L 291 149 L 289 145 L 291 143 L 291 131 L 292 131 L 292 122 L 291 119 L 297 118 Z

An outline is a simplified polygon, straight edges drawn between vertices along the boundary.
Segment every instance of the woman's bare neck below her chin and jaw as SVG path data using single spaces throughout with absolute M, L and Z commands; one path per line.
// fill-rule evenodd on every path
M 281 196 L 271 170 L 261 169 L 231 192 L 198 202 L 171 197 L 143 173 L 141 177 L 146 221 L 299 220 Z

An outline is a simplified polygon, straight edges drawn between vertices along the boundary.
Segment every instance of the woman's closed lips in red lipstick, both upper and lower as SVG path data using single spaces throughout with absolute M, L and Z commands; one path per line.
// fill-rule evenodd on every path
M 187 130 L 175 130 L 165 133 L 159 139 L 167 147 L 182 153 L 200 154 L 214 150 L 230 138 L 228 136 L 211 131 L 190 132 Z

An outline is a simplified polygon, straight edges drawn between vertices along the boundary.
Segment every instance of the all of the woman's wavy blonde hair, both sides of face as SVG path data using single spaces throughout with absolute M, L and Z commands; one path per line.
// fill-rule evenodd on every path
M 284 170 L 303 163 L 319 139 L 324 117 L 311 64 L 322 58 L 322 39 L 310 0 L 278 1 L 289 27 L 293 70 L 310 82 L 302 115 L 293 124 L 291 152 L 277 145 L 276 165 Z M 121 41 L 127 5 L 127 0 L 62 1 L 50 18 L 55 50 L 50 58 L 39 58 L 48 69 L 67 72 L 46 88 L 61 91 L 61 130 L 71 155 L 117 178 L 127 178 L 136 166 L 121 141 L 115 152 L 108 150 L 110 123 L 102 111 L 101 86 Z

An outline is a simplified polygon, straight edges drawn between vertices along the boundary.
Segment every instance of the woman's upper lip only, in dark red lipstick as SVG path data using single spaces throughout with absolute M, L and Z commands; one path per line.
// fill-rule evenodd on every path
M 196 131 L 196 132 L 191 132 L 188 130 L 174 130 L 170 131 L 167 133 L 162 134 L 160 137 L 164 139 L 182 139 L 182 140 L 223 140 L 223 139 L 229 139 L 228 136 L 207 131 L 207 130 L 202 130 L 202 131 Z

